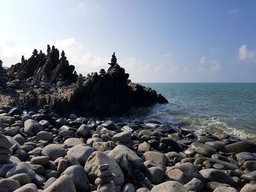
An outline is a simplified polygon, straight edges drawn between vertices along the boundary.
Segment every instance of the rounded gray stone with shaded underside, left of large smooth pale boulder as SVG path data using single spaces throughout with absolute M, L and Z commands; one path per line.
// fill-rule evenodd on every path
M 42 149 L 42 155 L 49 156 L 50 160 L 56 160 L 56 158 L 64 157 L 66 150 L 61 145 L 50 144 Z

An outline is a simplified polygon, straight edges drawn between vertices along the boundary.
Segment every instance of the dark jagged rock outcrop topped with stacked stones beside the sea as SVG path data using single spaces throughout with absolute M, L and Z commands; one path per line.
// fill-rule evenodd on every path
M 131 107 L 146 107 L 154 103 L 167 103 L 165 97 L 157 94 L 151 88 L 145 88 L 139 84 L 133 83 L 129 78 L 129 74 L 116 63 L 115 59 L 111 60 L 110 68 L 107 72 L 99 74 L 92 73 L 87 77 L 79 77 L 75 71 L 75 66 L 70 66 L 64 55 L 61 53 L 59 59 L 59 51 L 53 49 L 44 55 L 37 54 L 34 50 L 33 55 L 28 61 L 22 64 L 16 64 L 9 69 L 9 79 L 12 80 L 12 72 L 26 72 L 26 78 L 35 77 L 36 74 L 48 74 L 52 83 L 59 80 L 60 75 L 64 80 L 73 82 L 64 87 L 53 87 L 50 89 L 42 88 L 23 88 L 23 90 L 9 89 L 9 93 L 4 93 L 1 107 L 22 108 L 42 108 L 45 104 L 49 104 L 54 110 L 60 114 L 75 112 L 78 115 L 122 115 Z M 39 61 L 39 58 L 42 58 Z M 32 68 L 35 65 L 37 67 Z M 17 68 L 17 69 L 16 69 Z M 38 73 L 37 73 L 38 72 Z M 79 83 L 78 83 L 79 82 Z

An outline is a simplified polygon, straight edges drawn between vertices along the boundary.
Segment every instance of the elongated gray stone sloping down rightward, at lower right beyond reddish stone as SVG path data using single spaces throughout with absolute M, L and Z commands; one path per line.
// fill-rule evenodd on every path
M 225 174 L 225 172 L 218 169 L 202 169 L 200 174 L 202 174 L 206 180 L 234 185 L 234 180 Z

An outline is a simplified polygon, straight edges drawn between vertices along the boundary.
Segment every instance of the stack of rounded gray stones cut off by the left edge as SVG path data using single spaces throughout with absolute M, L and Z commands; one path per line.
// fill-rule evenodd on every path
M 12 155 L 10 147 L 12 147 L 12 144 L 7 137 L 0 134 L 0 164 L 6 163 L 10 159 L 10 156 Z

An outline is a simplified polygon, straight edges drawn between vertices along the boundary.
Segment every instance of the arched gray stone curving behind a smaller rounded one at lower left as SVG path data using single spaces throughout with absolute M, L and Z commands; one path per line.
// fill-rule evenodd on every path
M 29 177 L 31 178 L 31 180 L 34 179 L 35 177 L 35 172 L 29 167 L 28 164 L 26 164 L 25 162 L 20 162 L 19 164 L 17 164 L 16 166 L 14 166 L 12 169 L 10 169 L 6 176 L 7 177 L 12 177 L 12 175 L 15 174 L 19 174 L 19 173 L 25 173 L 28 174 Z

